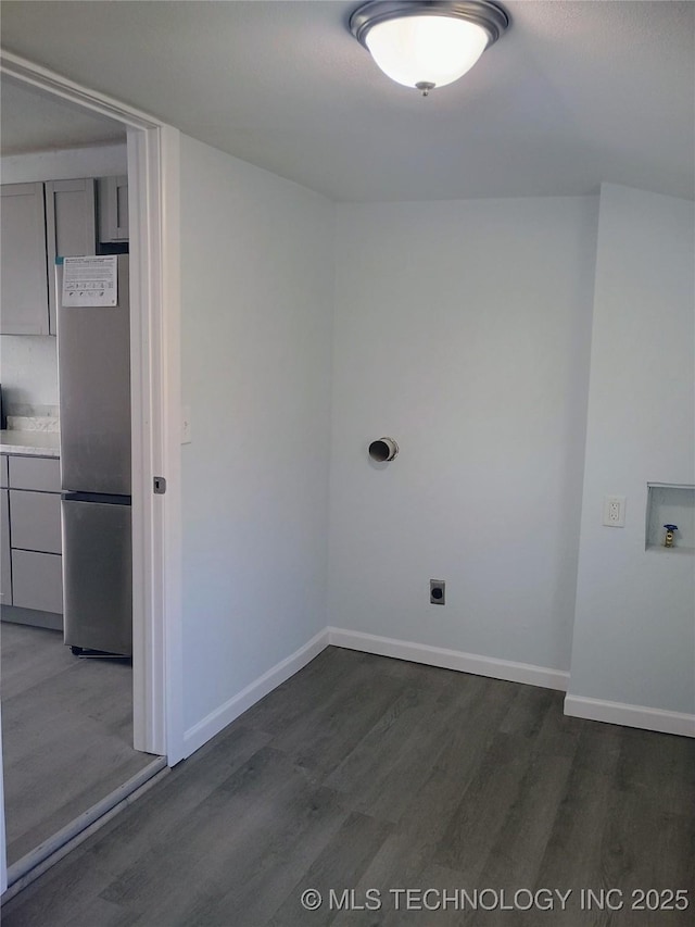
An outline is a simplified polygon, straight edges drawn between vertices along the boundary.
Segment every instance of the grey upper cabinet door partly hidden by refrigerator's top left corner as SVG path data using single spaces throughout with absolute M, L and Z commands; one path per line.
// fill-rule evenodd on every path
M 81 258 L 97 250 L 94 181 L 49 180 L 46 185 L 50 333 L 55 335 L 55 259 Z

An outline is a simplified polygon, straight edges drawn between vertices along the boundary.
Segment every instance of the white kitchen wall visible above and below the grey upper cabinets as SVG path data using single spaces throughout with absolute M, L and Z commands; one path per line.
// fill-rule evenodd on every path
M 0 159 L 3 184 L 127 173 L 126 143 L 13 154 Z M 10 408 L 58 405 L 58 358 L 50 336 L 0 336 L 3 401 Z M 25 410 L 20 410 L 25 411 Z

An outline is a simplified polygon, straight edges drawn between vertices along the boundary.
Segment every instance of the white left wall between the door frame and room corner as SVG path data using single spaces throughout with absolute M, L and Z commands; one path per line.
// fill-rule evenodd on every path
M 333 216 L 181 137 L 189 747 L 326 625 Z

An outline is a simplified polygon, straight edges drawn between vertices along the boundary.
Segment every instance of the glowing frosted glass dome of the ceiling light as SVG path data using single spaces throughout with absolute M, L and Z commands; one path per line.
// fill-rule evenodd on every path
M 377 23 L 365 43 L 379 67 L 406 87 L 444 87 L 458 80 L 488 47 L 476 23 L 446 16 L 405 16 Z

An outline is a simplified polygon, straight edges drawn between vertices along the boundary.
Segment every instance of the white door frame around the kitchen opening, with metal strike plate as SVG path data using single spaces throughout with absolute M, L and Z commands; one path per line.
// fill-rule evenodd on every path
M 169 765 L 173 765 L 185 755 L 179 133 L 146 113 L 11 52 L 2 51 L 0 74 L 117 120 L 127 129 L 132 390 L 134 743 L 138 750 L 166 756 Z M 153 493 L 154 476 L 166 479 L 165 494 Z M 1 856 L 0 852 L 0 876 L 3 875 Z

